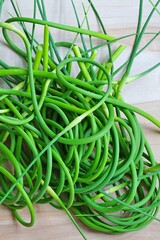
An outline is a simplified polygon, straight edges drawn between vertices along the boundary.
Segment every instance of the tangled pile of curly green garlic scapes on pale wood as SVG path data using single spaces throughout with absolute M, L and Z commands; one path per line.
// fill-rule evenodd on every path
M 24 33 L 10 24 L 15 21 Z M 43 44 L 34 47 L 25 22 L 44 25 Z M 33 203 L 63 208 L 80 232 L 69 208 L 89 227 L 108 233 L 135 231 L 158 220 L 160 167 L 136 113 L 158 127 L 160 122 L 120 95 L 138 43 L 128 72 L 115 82 L 113 61 L 123 46 L 100 64 L 94 50 L 89 56 L 75 43 L 55 44 L 48 26 L 105 39 L 110 51 L 113 37 L 20 16 L 0 26 L 10 47 L 27 61 L 26 68 L 0 62 L 0 76 L 8 85 L 0 88 L 0 202 L 25 226 L 35 221 Z M 22 38 L 26 51 L 12 42 L 8 30 Z M 137 31 L 135 43 L 141 36 Z M 70 54 L 57 63 L 48 43 L 56 53 L 58 47 L 70 48 Z M 30 222 L 18 214 L 25 206 Z

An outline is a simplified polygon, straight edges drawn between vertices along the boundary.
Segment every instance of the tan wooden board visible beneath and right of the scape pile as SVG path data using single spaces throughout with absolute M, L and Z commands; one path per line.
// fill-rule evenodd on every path
M 138 107 L 150 112 L 160 119 L 160 101 L 145 104 L 136 104 Z M 150 142 L 157 161 L 160 162 L 160 129 L 149 121 L 140 117 L 140 122 Z M 61 210 L 56 210 L 49 205 L 35 206 L 36 223 L 31 228 L 21 226 L 11 215 L 10 211 L 0 207 L 0 240 L 81 240 L 82 237 L 73 226 L 68 216 Z M 27 210 L 21 211 L 27 217 Z M 160 218 L 160 213 L 159 213 Z M 160 223 L 153 221 L 147 228 L 137 232 L 121 235 L 107 235 L 85 227 L 79 223 L 88 240 L 158 240 Z

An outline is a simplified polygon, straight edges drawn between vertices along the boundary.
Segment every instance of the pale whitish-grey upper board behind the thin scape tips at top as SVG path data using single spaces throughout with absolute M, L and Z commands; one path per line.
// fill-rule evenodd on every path
M 16 2 L 16 1 L 15 1 Z M 20 9 L 22 10 L 22 14 L 24 16 L 32 16 L 33 10 L 33 0 L 18 0 L 17 1 Z M 88 6 L 87 1 L 83 1 L 86 8 Z M 151 3 L 149 0 L 145 0 L 144 11 L 143 11 L 143 22 L 148 16 L 151 10 Z M 155 2 L 155 1 L 153 1 Z M 84 18 L 84 12 L 82 8 L 82 1 L 75 0 L 75 6 L 77 7 L 77 11 L 79 14 L 80 21 Z M 129 33 L 135 33 L 137 17 L 138 17 L 138 0 L 93 0 L 93 3 L 96 6 L 106 30 L 109 35 L 113 35 L 114 37 L 119 37 L 122 35 L 126 35 Z M 66 25 L 77 26 L 77 22 L 75 19 L 75 15 L 73 12 L 73 8 L 70 0 L 45 0 L 47 16 L 48 20 L 63 23 Z M 159 6 L 160 10 L 160 6 Z M 13 8 L 9 0 L 6 0 L 2 12 L 1 19 L 4 21 L 9 18 L 9 13 L 14 14 Z M 90 21 L 90 28 L 92 30 L 101 31 L 97 20 L 92 12 L 92 9 L 89 10 L 88 18 Z M 83 28 L 87 28 L 86 23 L 83 24 Z M 160 16 L 158 13 L 155 13 L 147 32 L 157 32 L 160 30 Z M 60 30 L 53 30 L 54 39 L 55 40 L 70 40 L 74 39 L 74 33 L 68 33 Z M 13 35 L 13 34 L 12 34 Z M 37 28 L 37 38 L 39 41 L 42 41 L 43 36 L 43 28 Z M 142 39 L 143 46 L 150 35 L 145 35 Z M 14 39 L 14 35 L 12 39 Z M 119 66 L 120 63 L 124 62 L 129 56 L 131 51 L 131 47 L 133 44 L 134 38 L 127 38 L 121 40 L 121 44 L 127 46 L 126 50 L 120 57 L 118 61 L 115 62 L 116 66 Z M 22 46 L 22 43 L 19 39 L 15 38 L 16 43 Z M 98 43 L 98 40 L 95 40 L 95 44 Z M 119 43 L 116 43 L 117 47 Z M 23 47 L 23 46 L 22 46 Z M 98 61 L 102 61 L 107 59 L 107 50 L 104 48 L 99 51 Z M 13 53 L 8 47 L 4 46 L 4 40 L 2 35 L 0 34 L 0 59 L 3 59 L 7 63 L 11 65 L 19 65 L 22 66 L 22 60 L 17 57 L 15 53 Z M 145 69 L 153 66 L 154 64 L 160 62 L 160 36 L 135 60 L 133 65 L 133 69 L 131 75 L 138 74 Z M 160 68 L 154 70 L 149 75 L 138 79 L 137 81 L 126 85 L 123 91 L 123 97 L 127 102 L 137 103 L 137 102 L 148 102 L 160 100 Z

